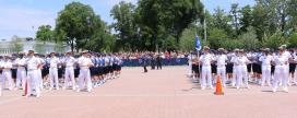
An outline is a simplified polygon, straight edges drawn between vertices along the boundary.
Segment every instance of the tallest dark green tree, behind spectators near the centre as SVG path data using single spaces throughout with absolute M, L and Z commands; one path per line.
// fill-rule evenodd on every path
M 181 33 L 199 17 L 203 5 L 198 0 L 141 0 L 136 8 L 142 39 L 150 50 L 157 50 L 163 39 L 171 35 L 179 43 Z

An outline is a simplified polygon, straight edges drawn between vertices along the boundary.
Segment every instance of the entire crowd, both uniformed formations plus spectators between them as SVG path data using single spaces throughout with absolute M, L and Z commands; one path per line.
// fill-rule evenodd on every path
M 144 72 L 146 67 L 162 69 L 166 58 L 188 58 L 189 76 L 201 84 L 201 88 L 213 88 L 216 76 L 222 78 L 223 87 L 250 88 L 249 83 L 272 87 L 276 92 L 283 86 L 297 85 L 297 49 L 269 48 L 246 51 L 243 49 L 211 50 L 205 46 L 200 52 L 122 52 L 81 55 L 50 52 L 40 55 L 34 50 L 12 56 L 0 56 L 1 91 L 26 90 L 26 96 L 40 96 L 44 88 L 87 91 L 103 85 L 107 80 L 119 78 L 122 59 L 139 59 Z M 0 92 L 1 92 L 0 91 Z M 0 93 L 1 95 L 1 93 Z

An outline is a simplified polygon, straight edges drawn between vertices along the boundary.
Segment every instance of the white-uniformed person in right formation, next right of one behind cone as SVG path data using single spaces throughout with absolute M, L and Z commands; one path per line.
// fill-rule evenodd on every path
M 236 59 L 236 63 L 238 64 L 236 70 L 236 88 L 240 88 L 242 86 L 250 88 L 248 83 L 249 78 L 247 68 L 247 63 L 249 62 L 250 62 L 249 59 L 245 56 L 243 49 L 240 49 L 239 55 Z

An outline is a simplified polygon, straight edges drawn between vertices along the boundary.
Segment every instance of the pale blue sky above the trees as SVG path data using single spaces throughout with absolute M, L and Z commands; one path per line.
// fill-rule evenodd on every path
M 13 35 L 35 37 L 38 26 L 45 24 L 55 26 L 58 12 L 72 1 L 90 4 L 108 24 L 114 22 L 109 12 L 115 4 L 120 1 L 134 4 L 138 2 L 138 0 L 0 0 L 0 39 L 10 39 Z M 254 4 L 253 0 L 204 1 L 206 9 L 211 12 L 217 7 L 229 11 L 231 3 L 239 3 L 239 7 Z

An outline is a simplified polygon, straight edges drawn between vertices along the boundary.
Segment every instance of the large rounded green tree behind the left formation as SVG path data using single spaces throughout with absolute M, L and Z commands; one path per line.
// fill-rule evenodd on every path
M 103 28 L 102 20 L 90 5 L 71 2 L 58 13 L 56 35 L 58 40 L 64 40 L 71 50 L 91 49 L 91 38 L 96 28 Z

